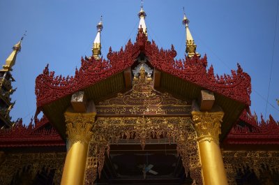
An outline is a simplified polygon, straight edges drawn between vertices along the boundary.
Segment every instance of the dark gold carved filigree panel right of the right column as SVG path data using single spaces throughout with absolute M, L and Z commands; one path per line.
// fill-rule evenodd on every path
M 238 173 L 254 172 L 259 184 L 278 184 L 279 151 L 222 151 L 229 184 Z

